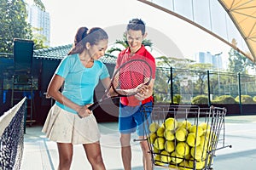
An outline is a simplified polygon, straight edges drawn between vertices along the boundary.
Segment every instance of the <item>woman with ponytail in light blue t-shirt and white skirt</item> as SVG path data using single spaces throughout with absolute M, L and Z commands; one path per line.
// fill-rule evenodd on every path
M 106 31 L 98 27 L 89 31 L 86 27 L 79 28 L 73 48 L 61 60 L 49 82 L 47 94 L 55 99 L 55 105 L 42 131 L 57 143 L 60 170 L 70 169 L 73 144 L 83 144 L 92 169 L 105 169 L 96 118 L 88 107 L 93 103 L 99 80 L 105 88 L 110 84 L 108 69 L 98 60 L 107 47 Z

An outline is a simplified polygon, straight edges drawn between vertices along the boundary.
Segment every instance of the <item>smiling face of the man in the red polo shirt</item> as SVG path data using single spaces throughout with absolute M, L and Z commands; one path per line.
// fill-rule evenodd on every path
M 128 30 L 126 31 L 126 38 L 131 49 L 131 53 L 134 54 L 139 48 L 142 47 L 143 39 L 146 37 L 146 34 L 143 35 L 141 30 Z

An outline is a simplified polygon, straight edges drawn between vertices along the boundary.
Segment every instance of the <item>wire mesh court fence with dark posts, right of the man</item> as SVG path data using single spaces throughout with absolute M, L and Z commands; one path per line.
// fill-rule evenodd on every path
M 234 101 L 222 100 L 221 104 L 255 105 L 255 85 L 255 75 L 158 67 L 154 82 L 154 99 L 171 104 L 212 105 L 218 104 L 218 100 L 224 96 Z M 193 103 L 196 96 L 205 96 L 207 100 Z

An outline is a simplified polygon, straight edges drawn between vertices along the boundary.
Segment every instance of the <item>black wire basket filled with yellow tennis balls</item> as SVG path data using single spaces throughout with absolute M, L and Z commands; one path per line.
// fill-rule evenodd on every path
M 153 166 L 169 169 L 212 169 L 216 150 L 225 146 L 225 108 L 154 105 L 146 121 Z

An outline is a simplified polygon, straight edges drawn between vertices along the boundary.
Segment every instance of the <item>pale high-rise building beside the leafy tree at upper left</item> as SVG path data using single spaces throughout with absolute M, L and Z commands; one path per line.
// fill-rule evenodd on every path
M 28 13 L 28 23 L 31 24 L 33 28 L 36 28 L 33 31 L 34 34 L 39 34 L 46 37 L 46 42 L 44 45 L 49 46 L 50 43 L 50 18 L 49 13 L 42 11 L 36 5 L 28 5 L 27 6 Z

